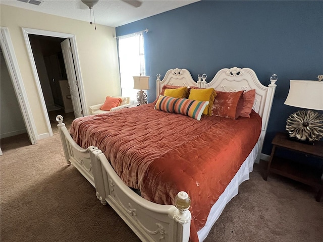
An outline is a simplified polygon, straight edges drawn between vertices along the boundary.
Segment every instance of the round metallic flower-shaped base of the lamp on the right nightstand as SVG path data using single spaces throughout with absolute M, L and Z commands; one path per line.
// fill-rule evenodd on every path
M 313 110 L 300 110 L 286 121 L 289 137 L 301 141 L 318 141 L 323 137 L 323 115 Z

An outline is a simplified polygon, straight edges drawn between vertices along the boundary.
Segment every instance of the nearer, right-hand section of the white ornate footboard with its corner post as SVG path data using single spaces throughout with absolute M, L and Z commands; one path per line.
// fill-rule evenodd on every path
M 181 204 L 180 210 L 173 205 L 149 202 L 123 183 L 101 150 L 89 151 L 92 165 L 98 168 L 94 175 L 95 182 L 100 184 L 96 187 L 97 197 L 101 202 L 105 198 L 142 241 L 188 241 L 190 201 L 184 206 Z M 101 186 L 102 183 L 104 186 Z M 182 198 L 179 203 L 185 203 L 185 192 L 180 192 L 177 196 Z

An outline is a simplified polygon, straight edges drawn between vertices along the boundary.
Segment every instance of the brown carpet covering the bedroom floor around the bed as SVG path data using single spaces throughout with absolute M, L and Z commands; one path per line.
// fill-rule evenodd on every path
M 2 242 L 139 241 L 67 166 L 58 134 L 36 145 L 19 142 L 5 144 L 0 156 Z M 204 241 L 322 242 L 323 202 L 315 201 L 316 191 L 278 175 L 264 181 L 261 167 L 255 164 Z

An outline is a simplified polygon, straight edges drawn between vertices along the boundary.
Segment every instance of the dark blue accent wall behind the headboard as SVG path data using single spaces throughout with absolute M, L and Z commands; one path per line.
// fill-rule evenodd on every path
M 323 74 L 321 1 L 201 1 L 117 27 L 116 34 L 146 28 L 149 102 L 156 97 L 156 74 L 162 79 L 169 69 L 186 68 L 194 80 L 205 73 L 210 81 L 222 68 L 248 67 L 263 85 L 278 75 L 265 154 L 271 153 L 275 133 L 285 132 L 288 116 L 299 110 L 284 104 L 289 80 Z

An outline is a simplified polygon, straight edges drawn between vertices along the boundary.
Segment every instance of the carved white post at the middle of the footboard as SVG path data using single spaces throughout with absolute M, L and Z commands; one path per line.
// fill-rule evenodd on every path
M 104 190 L 101 161 L 97 157 L 99 154 L 103 154 L 103 153 L 95 146 L 92 146 L 91 148 L 89 148 L 89 153 L 90 153 L 91 165 L 93 168 L 93 177 L 94 177 L 95 191 L 96 191 L 95 195 L 102 205 L 106 205 L 106 201 L 105 201 L 106 195 Z

